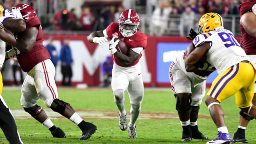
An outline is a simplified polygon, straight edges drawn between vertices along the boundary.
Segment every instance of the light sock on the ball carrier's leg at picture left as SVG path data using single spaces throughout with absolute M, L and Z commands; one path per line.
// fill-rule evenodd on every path
M 116 103 L 116 106 L 119 110 L 120 114 L 126 114 L 126 111 L 124 109 L 124 90 L 118 89 L 115 90 L 114 92 L 114 102 Z M 118 99 L 116 99 L 118 97 Z

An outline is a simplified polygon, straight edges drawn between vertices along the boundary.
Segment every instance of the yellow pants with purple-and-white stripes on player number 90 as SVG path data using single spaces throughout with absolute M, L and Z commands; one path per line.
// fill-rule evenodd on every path
M 207 96 L 222 102 L 235 94 L 236 105 L 246 108 L 252 104 L 256 71 L 250 63 L 240 62 L 218 75 Z

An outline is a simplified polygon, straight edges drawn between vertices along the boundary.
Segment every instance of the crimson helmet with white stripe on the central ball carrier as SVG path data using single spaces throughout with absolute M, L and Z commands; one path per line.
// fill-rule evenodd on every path
M 128 38 L 136 34 L 140 24 L 140 18 L 134 10 L 125 10 L 119 17 L 119 31 Z

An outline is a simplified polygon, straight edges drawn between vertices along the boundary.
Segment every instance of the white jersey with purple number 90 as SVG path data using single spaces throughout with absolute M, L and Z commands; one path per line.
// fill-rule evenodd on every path
M 217 69 L 218 74 L 242 60 L 249 60 L 229 30 L 220 28 L 204 32 L 193 40 L 196 48 L 207 42 L 210 43 L 210 49 L 206 52 L 207 61 Z

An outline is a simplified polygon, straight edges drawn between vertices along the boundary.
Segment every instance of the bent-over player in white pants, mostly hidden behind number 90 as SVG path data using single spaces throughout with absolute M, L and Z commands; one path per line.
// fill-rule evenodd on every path
M 176 97 L 176 110 L 182 125 L 182 142 L 190 142 L 192 138 L 208 140 L 199 130 L 197 125 L 199 105 L 205 96 L 205 80 L 216 70 L 207 61 L 198 66 L 186 66 L 184 56 L 189 54 L 192 44 L 183 54 L 179 55 L 171 64 L 169 78 L 172 91 Z M 194 72 L 191 72 L 191 68 Z M 190 72 L 187 72 L 190 71 Z

